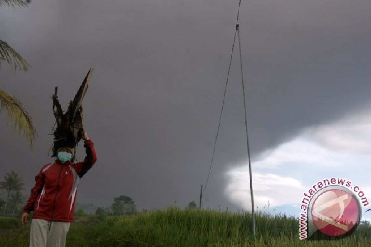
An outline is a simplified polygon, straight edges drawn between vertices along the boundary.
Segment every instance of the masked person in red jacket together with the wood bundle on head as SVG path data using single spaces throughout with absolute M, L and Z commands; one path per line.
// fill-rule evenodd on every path
M 30 247 L 64 247 L 75 211 L 76 191 L 80 179 L 96 162 L 94 144 L 83 126 L 82 100 L 88 89 L 90 69 L 75 98 L 64 113 L 57 99 L 57 87 L 52 96 L 57 127 L 54 131 L 53 163 L 46 164 L 35 177 L 35 186 L 23 208 L 22 224 L 33 211 Z M 73 163 L 76 144 L 84 141 L 86 157 Z

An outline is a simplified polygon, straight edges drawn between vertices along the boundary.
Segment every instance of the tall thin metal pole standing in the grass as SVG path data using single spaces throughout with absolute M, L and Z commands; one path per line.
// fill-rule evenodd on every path
M 241 77 L 242 77 L 242 90 L 243 90 L 243 106 L 245 109 L 245 127 L 246 127 L 246 141 L 247 141 L 247 156 L 249 157 L 249 173 L 250 173 L 250 192 L 251 192 L 251 211 L 253 217 L 253 234 L 255 235 L 255 212 L 254 212 L 254 197 L 253 197 L 253 179 L 251 173 L 251 160 L 250 160 L 250 145 L 249 145 L 249 132 L 247 131 L 247 112 L 246 112 L 246 100 L 245 100 L 245 86 L 243 82 L 243 70 L 242 70 L 242 54 L 241 54 L 241 41 L 240 41 L 240 29 L 239 24 L 236 24 L 238 31 L 238 44 L 240 47 L 240 63 L 241 63 Z

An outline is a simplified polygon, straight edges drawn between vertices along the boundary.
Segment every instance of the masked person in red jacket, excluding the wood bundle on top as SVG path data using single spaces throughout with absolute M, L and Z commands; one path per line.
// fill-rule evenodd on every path
M 34 211 L 30 247 L 65 246 L 80 178 L 97 160 L 94 144 L 85 131 L 82 139 L 86 147 L 86 157 L 82 162 L 71 162 L 75 153 L 74 143 L 55 141 L 53 149 L 57 159 L 43 166 L 35 177 L 35 186 L 22 214 L 22 224 L 25 225 L 30 211 Z

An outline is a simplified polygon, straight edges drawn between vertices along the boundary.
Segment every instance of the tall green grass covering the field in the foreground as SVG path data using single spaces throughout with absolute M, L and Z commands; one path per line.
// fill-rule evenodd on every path
M 4 220 L 9 219 L 0 218 L 0 221 Z M 87 215 L 75 218 L 67 235 L 66 246 L 363 247 L 371 243 L 371 228 L 367 226 L 358 227 L 353 235 L 341 240 L 308 241 L 299 240 L 296 218 L 258 213 L 256 237 L 252 236 L 251 222 L 248 213 L 198 208 L 181 210 L 176 207 L 111 216 L 104 220 L 97 215 Z M 0 246 L 28 246 L 30 221 L 27 227 L 17 224 L 11 226 L 16 230 L 0 233 Z

